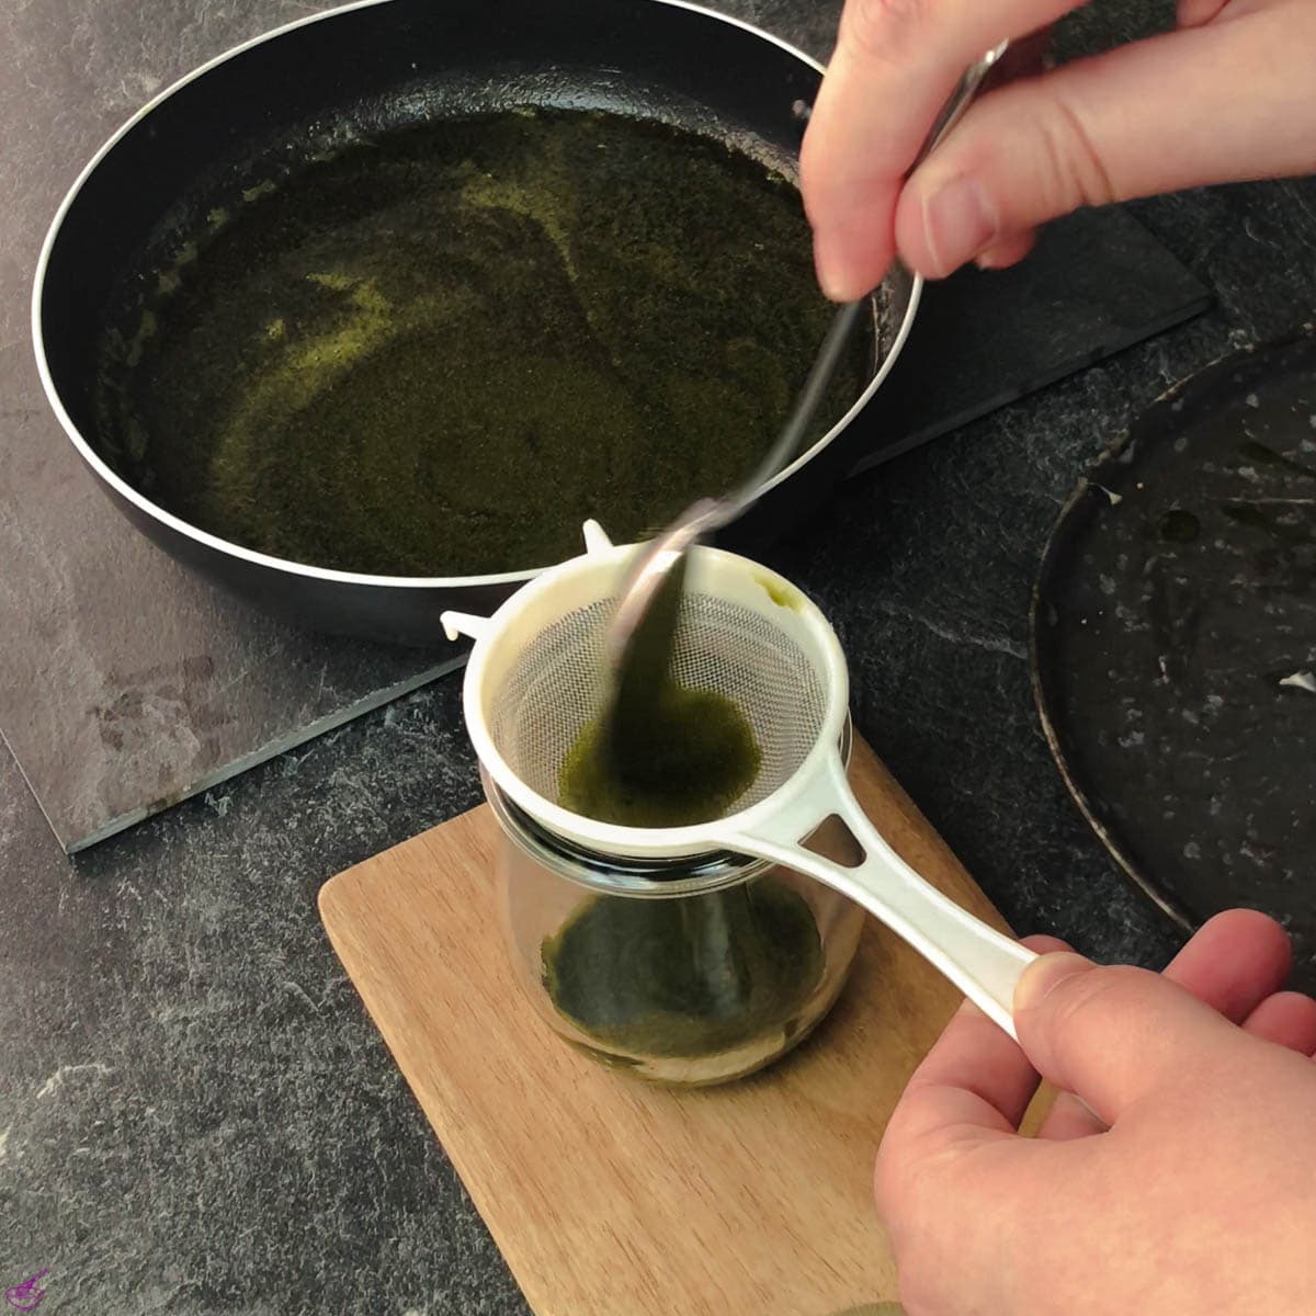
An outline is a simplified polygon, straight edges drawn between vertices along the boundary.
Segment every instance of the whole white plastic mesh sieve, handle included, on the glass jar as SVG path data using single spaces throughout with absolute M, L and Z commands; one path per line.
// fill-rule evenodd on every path
M 588 551 L 544 572 L 492 617 L 445 613 L 475 647 L 463 705 L 475 751 L 499 788 L 559 837 L 604 855 L 688 857 L 730 850 L 824 882 L 876 915 L 1013 1034 L 1015 983 L 1033 953 L 920 878 L 850 792 L 838 744 L 849 703 L 845 658 L 817 607 L 790 582 L 716 549 L 690 550 L 672 675 L 745 715 L 762 755 L 732 811 L 682 828 L 597 822 L 563 808 L 558 774 L 600 711 L 603 636 L 632 547 L 594 522 Z M 840 819 L 865 858 L 842 867 L 801 841 Z

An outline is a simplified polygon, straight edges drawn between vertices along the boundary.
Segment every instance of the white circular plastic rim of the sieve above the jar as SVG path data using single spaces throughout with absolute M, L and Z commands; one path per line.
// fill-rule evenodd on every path
M 800 613 L 809 632 L 819 642 L 822 655 L 822 679 L 826 711 L 819 726 L 817 737 L 809 751 L 795 771 L 763 799 L 747 808 L 737 809 L 708 822 L 671 828 L 625 826 L 619 822 L 599 822 L 580 813 L 572 813 L 561 804 L 546 799 L 528 786 L 515 772 L 494 742 L 483 707 L 484 679 L 488 670 L 494 641 L 516 617 L 534 605 L 541 595 L 555 588 L 566 576 L 615 566 L 619 570 L 637 545 L 613 545 L 570 558 L 558 567 L 545 572 L 521 590 L 517 590 L 490 619 L 482 634 L 476 638 L 466 665 L 462 683 L 462 704 L 466 716 L 466 729 L 480 765 L 492 778 L 497 788 L 519 808 L 550 832 L 571 838 L 591 850 L 628 854 L 637 858 L 694 858 L 707 854 L 715 834 L 740 832 L 749 834 L 755 826 L 772 815 L 792 804 L 800 795 L 812 788 L 824 763 L 834 757 L 845 721 L 849 717 L 850 691 L 849 671 L 841 641 L 824 616 L 821 608 L 797 584 L 751 558 L 725 549 L 696 545 L 691 555 L 699 555 L 713 563 L 722 563 L 733 570 L 753 571 L 755 579 L 770 578 L 779 584 L 791 599 L 792 611 Z M 716 842 L 715 842 L 716 844 Z

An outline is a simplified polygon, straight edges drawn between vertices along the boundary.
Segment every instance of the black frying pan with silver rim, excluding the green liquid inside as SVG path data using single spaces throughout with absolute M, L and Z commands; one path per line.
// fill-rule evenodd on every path
M 767 33 L 674 0 L 365 0 L 280 28 L 155 97 L 74 184 L 33 296 L 46 395 L 113 503 L 180 563 L 316 629 L 433 645 L 442 611 L 487 612 L 551 563 L 365 575 L 254 551 L 153 501 L 116 470 L 97 429 L 97 353 L 122 271 L 164 216 L 204 207 L 221 184 L 232 190 L 253 161 L 309 154 L 326 132 L 361 138 L 526 104 L 601 109 L 694 129 L 790 171 L 821 72 Z M 862 392 L 720 542 L 757 549 L 812 512 L 854 463 L 838 440 L 899 355 L 919 293 L 916 276 L 892 272 L 874 299 L 876 347 Z M 607 508 L 597 515 L 607 520 Z

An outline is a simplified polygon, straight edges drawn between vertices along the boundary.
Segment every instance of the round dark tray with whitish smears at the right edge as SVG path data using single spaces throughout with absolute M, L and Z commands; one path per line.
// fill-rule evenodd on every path
M 1316 337 L 1219 362 L 1145 412 L 1065 509 L 1033 620 L 1048 737 L 1124 869 L 1186 926 L 1266 909 L 1303 958 Z

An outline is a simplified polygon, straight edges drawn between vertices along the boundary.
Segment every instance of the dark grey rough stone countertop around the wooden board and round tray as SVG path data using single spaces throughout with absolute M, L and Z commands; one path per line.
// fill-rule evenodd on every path
M 30 0 L 0 33 L 29 80 L 58 74 L 126 114 L 309 8 L 151 0 L 111 30 L 96 7 Z M 816 53 L 837 12 L 736 8 Z M 1149 13 L 1094 8 L 1063 41 L 1095 49 Z M 93 146 L 67 142 L 66 163 Z M 1116 874 L 1042 741 L 1029 591 L 1061 503 L 1137 409 L 1311 316 L 1316 187 L 1134 211 L 1216 311 L 851 482 L 775 565 L 834 619 L 861 730 L 1007 917 L 1159 965 L 1173 930 Z M 478 797 L 450 678 L 74 863 L 0 761 L 0 1287 L 49 1269 L 43 1311 L 104 1316 L 525 1312 L 315 904 L 336 871 Z

